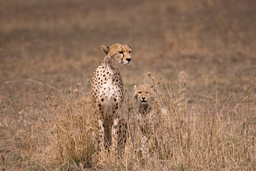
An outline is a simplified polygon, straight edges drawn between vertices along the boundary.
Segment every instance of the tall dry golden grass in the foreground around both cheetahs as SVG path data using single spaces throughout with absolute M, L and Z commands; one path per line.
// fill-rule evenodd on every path
M 139 131 L 132 131 L 122 156 L 108 155 L 105 169 L 135 170 L 247 170 L 256 167 L 255 125 L 247 121 L 253 103 L 246 106 L 247 113 L 241 118 L 235 112 L 243 108 L 229 109 L 230 102 L 218 103 L 208 97 L 200 106 L 187 108 L 187 79 L 184 71 L 178 71 L 178 90 L 168 89 L 170 96 L 167 126 L 156 114 L 155 134 L 149 138 L 149 158 L 143 159 L 139 151 Z M 94 109 L 90 99 L 88 82 L 77 84 L 73 90 L 59 89 L 56 93 L 41 90 L 49 111 L 49 118 L 30 121 L 25 135 L 12 133 L 13 149 L 20 166 L 32 165 L 33 169 L 96 169 L 97 130 Z M 55 95 L 54 95 L 55 94 Z M 250 97 L 247 97 L 250 98 Z M 160 100 L 159 99 L 159 100 Z M 136 106 L 136 105 L 135 105 Z M 33 108 L 33 106 L 31 106 Z M 158 110 L 154 108 L 154 110 Z M 136 111 L 136 107 L 135 110 Z M 235 112 L 234 112 L 235 111 Z M 39 111 L 38 114 L 40 115 Z M 136 115 L 136 112 L 130 115 Z M 127 113 L 128 114 L 128 113 Z M 159 115 L 159 117 L 157 116 Z M 131 117 L 132 120 L 133 117 Z M 49 119 L 51 122 L 49 122 Z M 166 122 L 165 122 L 166 123 Z M 23 123 L 25 124 L 25 122 Z M 133 125 L 131 125 L 133 124 Z M 131 129 L 136 122 L 130 123 Z M 165 132 L 163 129 L 167 129 Z M 156 134 L 157 132 L 157 134 Z M 6 151 L 7 152 L 7 151 Z M 4 153 L 6 153 L 4 152 Z M 11 158 L 2 155 L 2 166 L 10 168 Z M 22 162 L 21 162 L 22 161 Z

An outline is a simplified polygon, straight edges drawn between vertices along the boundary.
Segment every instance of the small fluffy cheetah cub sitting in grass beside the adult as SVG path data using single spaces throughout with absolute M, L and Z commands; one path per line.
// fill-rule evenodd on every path
M 167 110 L 161 108 L 156 95 L 156 86 L 154 85 L 134 85 L 134 97 L 139 102 L 137 120 L 139 124 L 140 134 L 142 135 L 142 145 L 140 150 L 142 157 L 148 157 L 147 145 L 148 138 L 152 134 L 160 134 L 156 127 L 159 124 L 165 124 L 167 121 Z M 163 117 L 161 119 L 157 117 Z M 159 123 L 161 120 L 163 123 Z M 158 122 L 158 123 L 157 123 Z

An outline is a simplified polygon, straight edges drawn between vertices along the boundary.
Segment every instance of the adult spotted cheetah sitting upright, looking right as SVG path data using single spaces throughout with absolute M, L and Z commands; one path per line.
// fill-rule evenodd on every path
M 99 155 L 98 163 L 102 163 L 106 149 L 111 146 L 111 151 L 117 153 L 119 138 L 125 138 L 127 134 L 127 123 L 120 118 L 118 109 L 124 101 L 123 81 L 118 68 L 129 65 L 132 61 L 132 49 L 126 44 L 113 44 L 110 47 L 101 46 L 106 57 L 92 75 L 91 96 L 100 115 L 98 120 Z M 122 131 L 122 133 L 120 132 Z M 126 140 L 123 139 L 125 142 Z

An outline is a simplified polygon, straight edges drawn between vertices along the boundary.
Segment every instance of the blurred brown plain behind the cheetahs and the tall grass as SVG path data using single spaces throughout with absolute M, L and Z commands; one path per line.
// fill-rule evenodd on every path
M 255 21 L 254 0 L 1 0 L 1 110 L 18 117 L 28 102 L 44 108 L 35 85 L 69 89 L 91 79 L 100 46 L 114 43 L 132 48 L 133 64 L 120 68 L 127 87 L 151 71 L 175 88 L 176 64 L 188 104 L 214 96 L 217 84 L 220 99 L 239 103 L 255 97 Z

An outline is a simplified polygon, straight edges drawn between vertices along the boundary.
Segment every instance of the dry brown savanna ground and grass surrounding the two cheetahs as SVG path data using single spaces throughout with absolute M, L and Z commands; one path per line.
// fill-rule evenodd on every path
M 0 167 L 99 168 L 87 79 L 104 58 L 101 45 L 126 43 L 127 89 L 148 71 L 171 87 L 162 94 L 170 135 L 150 160 L 135 138 L 106 169 L 255 169 L 255 21 L 253 0 L 2 0 Z M 136 106 L 127 94 L 123 114 Z

